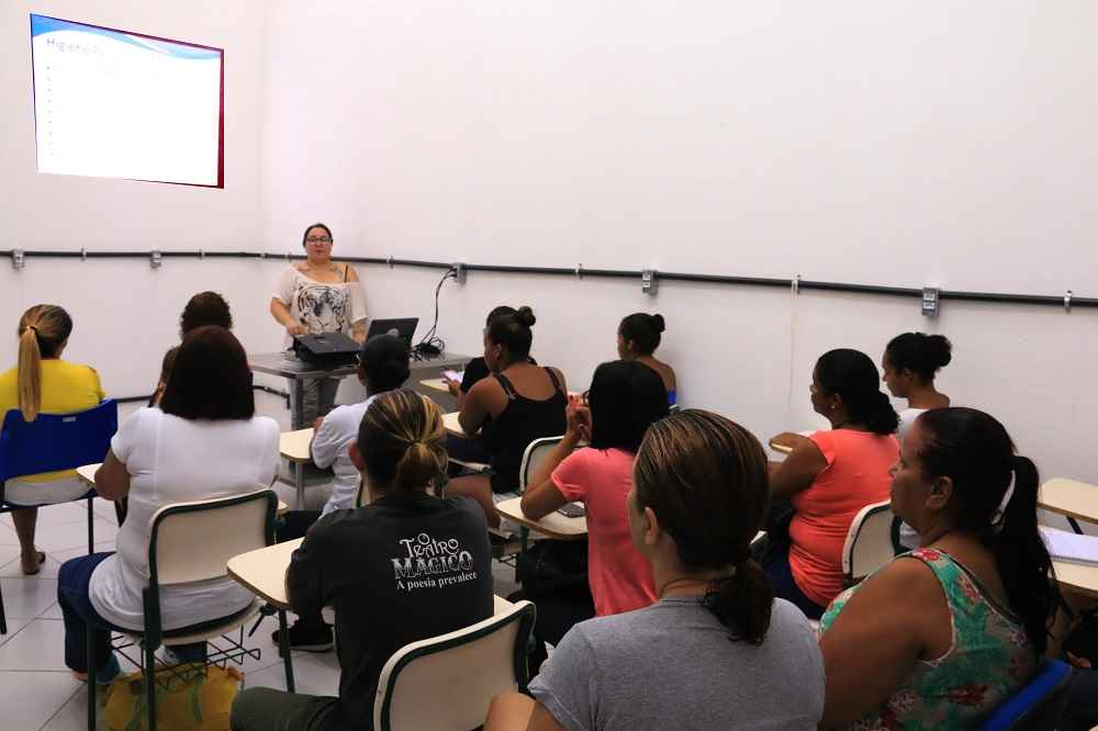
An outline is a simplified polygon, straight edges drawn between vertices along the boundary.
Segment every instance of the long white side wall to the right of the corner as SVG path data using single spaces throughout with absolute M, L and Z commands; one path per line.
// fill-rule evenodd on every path
M 1098 294 L 1096 24 L 1083 0 L 282 0 L 264 238 L 320 218 L 346 255 Z M 429 323 L 438 273 L 363 273 L 374 314 Z M 683 401 L 762 438 L 813 421 L 825 350 L 942 331 L 956 403 L 1098 481 L 1098 313 L 474 273 L 439 330 L 475 350 L 503 302 L 534 305 L 536 355 L 576 385 L 621 315 L 662 312 Z

